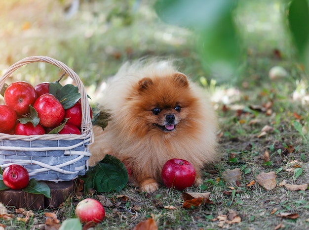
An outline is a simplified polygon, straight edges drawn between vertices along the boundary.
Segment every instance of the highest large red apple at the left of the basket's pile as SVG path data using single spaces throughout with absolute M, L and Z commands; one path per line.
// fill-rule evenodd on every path
M 37 97 L 35 88 L 23 81 L 10 84 L 4 92 L 5 104 L 14 109 L 17 115 L 29 113 L 29 105 L 33 105 Z

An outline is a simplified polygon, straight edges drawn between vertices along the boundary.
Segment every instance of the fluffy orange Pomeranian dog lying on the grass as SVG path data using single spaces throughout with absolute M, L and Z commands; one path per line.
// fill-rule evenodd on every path
M 220 159 L 212 105 L 172 61 L 124 64 L 100 104 L 111 117 L 104 131 L 94 127 L 89 165 L 105 154 L 116 156 L 140 191 L 157 190 L 162 167 L 169 159 L 191 162 L 197 175 L 195 185 L 202 183 L 204 166 Z

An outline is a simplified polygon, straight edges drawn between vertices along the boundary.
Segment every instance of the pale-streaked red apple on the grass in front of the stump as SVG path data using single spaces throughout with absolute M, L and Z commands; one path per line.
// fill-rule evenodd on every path
M 105 210 L 98 200 L 86 198 L 79 201 L 75 209 L 75 214 L 80 222 L 87 223 L 93 221 L 100 223 L 105 217 Z

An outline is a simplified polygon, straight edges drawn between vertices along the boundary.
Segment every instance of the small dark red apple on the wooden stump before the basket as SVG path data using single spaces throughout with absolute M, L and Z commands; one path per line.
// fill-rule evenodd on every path
M 10 165 L 3 170 L 3 183 L 9 188 L 18 190 L 26 187 L 29 183 L 29 173 L 21 165 Z

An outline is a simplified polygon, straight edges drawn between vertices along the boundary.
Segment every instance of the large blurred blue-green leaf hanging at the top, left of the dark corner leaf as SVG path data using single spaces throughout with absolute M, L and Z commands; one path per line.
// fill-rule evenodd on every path
M 165 22 L 193 31 L 203 67 L 221 80 L 234 76 L 241 58 L 241 39 L 234 21 L 236 0 L 157 0 Z

